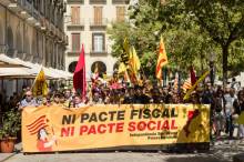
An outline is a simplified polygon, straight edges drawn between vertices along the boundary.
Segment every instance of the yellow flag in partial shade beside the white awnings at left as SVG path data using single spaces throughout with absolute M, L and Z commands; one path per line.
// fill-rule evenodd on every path
M 40 97 L 40 95 L 44 97 L 48 94 L 48 92 L 49 92 L 48 83 L 45 81 L 44 71 L 41 68 L 40 72 L 34 79 L 34 83 L 32 85 L 32 93 L 34 97 Z

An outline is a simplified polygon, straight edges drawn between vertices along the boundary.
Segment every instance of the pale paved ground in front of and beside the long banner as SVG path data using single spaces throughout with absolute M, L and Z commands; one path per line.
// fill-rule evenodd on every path
M 18 153 L 1 162 L 231 162 L 234 154 L 244 152 L 244 142 L 218 142 L 216 145 L 211 146 L 209 153 L 94 152 L 29 155 Z

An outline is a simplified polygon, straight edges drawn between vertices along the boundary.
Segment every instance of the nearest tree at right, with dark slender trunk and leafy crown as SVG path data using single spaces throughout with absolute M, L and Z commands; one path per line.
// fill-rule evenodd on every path
M 186 11 L 222 49 L 223 81 L 227 81 L 232 43 L 244 37 L 243 0 L 184 0 Z

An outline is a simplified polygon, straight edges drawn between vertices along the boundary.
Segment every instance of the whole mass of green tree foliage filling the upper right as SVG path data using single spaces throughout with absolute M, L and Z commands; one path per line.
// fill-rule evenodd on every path
M 201 73 L 209 62 L 226 80 L 227 70 L 242 70 L 244 1 L 242 0 L 139 0 L 129 9 L 129 21 L 108 30 L 112 54 L 120 57 L 123 39 L 135 47 L 144 71 L 154 75 L 160 36 L 164 38 L 169 68 L 187 72 L 194 64 Z M 215 57 L 213 57 L 215 55 Z

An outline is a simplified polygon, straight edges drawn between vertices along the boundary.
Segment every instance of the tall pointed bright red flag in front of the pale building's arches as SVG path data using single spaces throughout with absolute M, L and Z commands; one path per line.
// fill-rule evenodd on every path
M 84 61 L 84 45 L 82 44 L 80 58 L 73 73 L 73 88 L 77 92 L 85 98 L 87 94 L 87 80 L 85 80 L 85 61 Z

